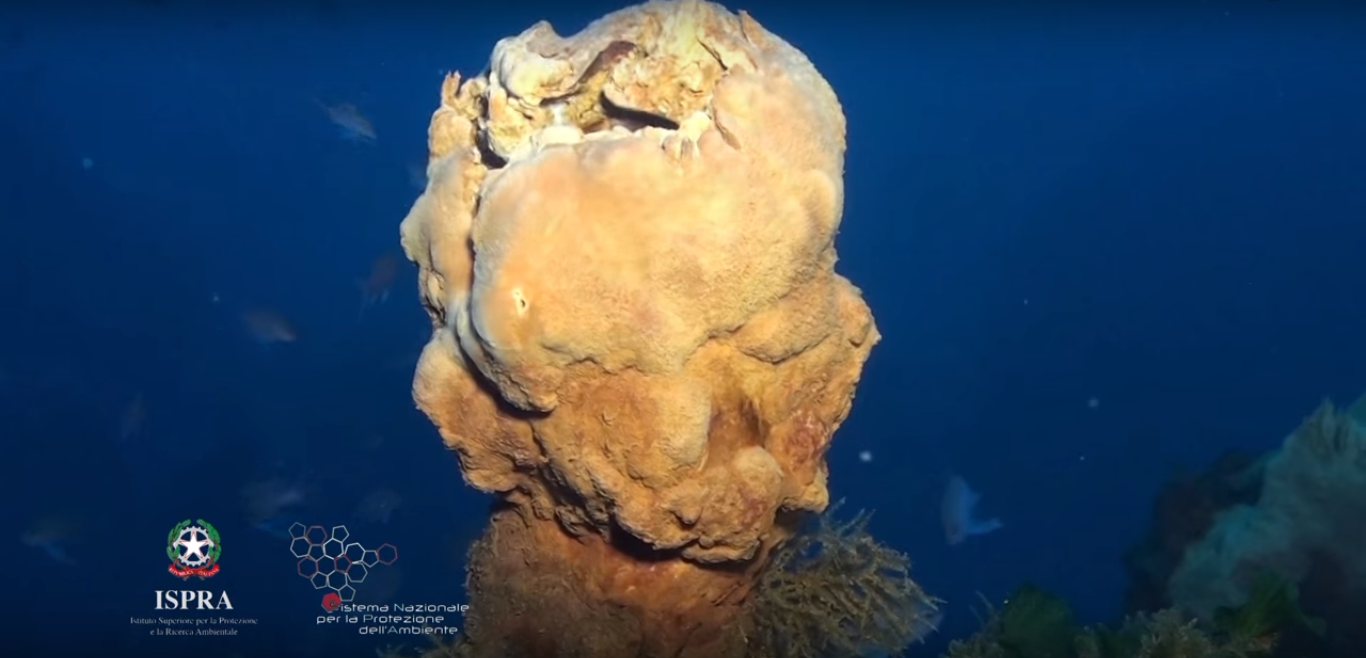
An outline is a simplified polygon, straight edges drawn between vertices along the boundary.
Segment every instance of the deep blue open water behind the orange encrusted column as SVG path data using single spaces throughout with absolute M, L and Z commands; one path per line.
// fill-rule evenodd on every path
M 0 558 L 7 642 L 152 655 L 373 655 L 317 625 L 291 521 L 399 558 L 392 598 L 462 603 L 489 498 L 410 396 L 428 319 L 400 254 L 447 71 L 622 3 L 127 1 L 0 8 Z M 1366 40 L 1287 1 L 817 11 L 747 3 L 848 117 L 837 269 L 884 340 L 828 456 L 847 509 L 947 603 L 908 655 L 1033 580 L 1120 617 L 1121 556 L 1173 468 L 1265 450 L 1366 390 Z M 1343 5 L 1346 7 L 1346 5 Z M 339 137 L 354 104 L 374 143 Z M 262 345 L 246 309 L 296 330 Z M 142 396 L 141 431 L 123 437 Z M 951 475 L 999 516 L 948 546 Z M 384 521 L 358 511 L 393 494 Z M 161 642 L 167 532 L 221 532 L 234 639 Z M 60 523 L 57 521 L 60 520 Z M 59 561 L 25 542 L 64 524 Z M 378 573 L 382 569 L 376 569 Z M 20 655 L 20 654 L 12 654 Z M 29 654 L 23 654 L 29 655 Z M 64 654 L 63 654 L 64 655 Z M 273 654 L 272 654 L 273 655 Z

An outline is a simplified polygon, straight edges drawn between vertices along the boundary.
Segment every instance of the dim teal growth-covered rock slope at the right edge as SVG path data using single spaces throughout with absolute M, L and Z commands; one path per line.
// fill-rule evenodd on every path
M 1325 401 L 1255 463 L 1227 461 L 1201 481 L 1180 482 L 1164 490 L 1175 497 L 1165 506 L 1186 513 L 1162 513 L 1160 504 L 1149 538 L 1126 556 L 1131 609 L 1169 602 L 1210 618 L 1244 605 L 1269 573 L 1294 586 L 1305 612 L 1324 623 L 1314 632 L 1288 629 L 1277 655 L 1361 655 L 1366 397 L 1347 411 Z

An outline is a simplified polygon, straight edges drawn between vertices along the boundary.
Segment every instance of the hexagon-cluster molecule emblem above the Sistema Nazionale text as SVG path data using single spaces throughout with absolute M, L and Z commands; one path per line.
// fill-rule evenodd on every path
M 381 543 L 366 549 L 351 541 L 346 526 L 290 526 L 290 552 L 299 558 L 299 576 L 314 590 L 328 590 L 322 595 L 322 609 L 336 612 L 355 599 L 357 586 L 365 583 L 372 569 L 388 567 L 399 558 L 399 549 Z

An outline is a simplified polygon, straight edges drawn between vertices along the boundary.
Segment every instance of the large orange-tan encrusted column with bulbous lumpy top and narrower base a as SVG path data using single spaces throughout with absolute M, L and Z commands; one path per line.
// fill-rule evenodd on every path
M 414 397 L 500 500 L 466 655 L 744 655 L 878 340 L 833 270 L 844 132 L 800 52 L 702 1 L 542 22 L 447 78 L 402 239 Z

